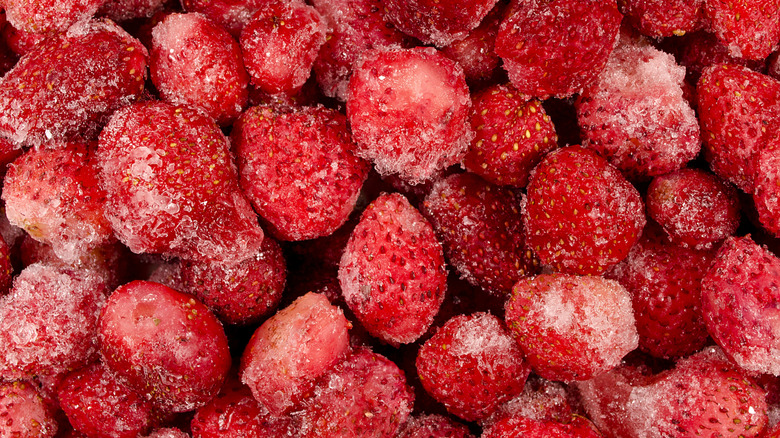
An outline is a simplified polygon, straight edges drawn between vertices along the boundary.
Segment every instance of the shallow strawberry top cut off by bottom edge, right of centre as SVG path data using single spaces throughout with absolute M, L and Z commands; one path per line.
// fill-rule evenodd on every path
M 533 420 L 521 416 L 503 418 L 486 428 L 482 438 L 600 438 L 602 435 L 585 417 L 569 423 Z

